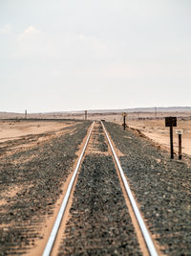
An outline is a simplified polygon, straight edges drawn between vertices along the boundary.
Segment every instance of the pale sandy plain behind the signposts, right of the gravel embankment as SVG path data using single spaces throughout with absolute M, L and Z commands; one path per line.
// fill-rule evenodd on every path
M 174 128 L 174 151 L 179 151 L 179 140 L 176 129 L 182 129 L 182 153 L 191 155 L 191 113 L 190 112 L 175 112 L 175 113 L 158 113 L 160 119 L 154 120 L 155 113 L 128 113 L 126 124 L 130 128 L 136 128 L 141 131 L 145 136 L 154 142 L 158 143 L 162 148 L 169 151 L 170 134 L 169 128 L 165 128 L 165 116 L 177 116 L 177 128 Z M 77 118 L 77 117 L 74 117 Z M 145 119 L 145 120 L 138 120 Z M 153 118 L 153 120 L 149 120 Z M 122 125 L 123 117 L 121 113 L 117 114 L 101 114 L 101 115 L 88 115 L 88 119 L 101 120 L 114 122 Z M 182 120 L 184 119 L 184 120 Z

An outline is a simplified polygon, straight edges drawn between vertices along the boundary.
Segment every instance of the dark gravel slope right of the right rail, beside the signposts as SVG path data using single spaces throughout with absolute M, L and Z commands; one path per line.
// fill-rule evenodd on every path
M 147 226 L 166 255 L 191 253 L 191 159 L 170 160 L 131 129 L 105 123 Z M 177 157 L 177 156 L 176 156 Z

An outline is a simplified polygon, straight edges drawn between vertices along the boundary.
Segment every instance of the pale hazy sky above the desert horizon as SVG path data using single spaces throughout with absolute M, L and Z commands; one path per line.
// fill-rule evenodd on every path
M 191 0 L 0 0 L 0 111 L 191 105 Z

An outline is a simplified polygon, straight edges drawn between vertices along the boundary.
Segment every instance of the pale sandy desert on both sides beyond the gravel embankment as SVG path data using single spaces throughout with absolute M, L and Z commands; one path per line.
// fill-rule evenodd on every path
M 129 113 L 127 117 L 127 125 L 130 128 L 138 128 L 144 135 L 159 143 L 166 150 L 169 150 L 169 128 L 165 128 L 164 117 L 165 116 L 177 116 L 178 127 L 174 128 L 174 150 L 178 152 L 178 134 L 176 129 L 183 129 L 182 135 L 182 153 L 191 155 L 191 120 L 189 112 L 175 112 L 175 113 L 158 113 L 158 116 L 162 119 L 159 120 L 138 120 L 143 118 L 154 118 L 155 113 Z M 84 116 L 66 116 L 66 118 L 84 119 Z M 89 120 L 101 120 L 122 124 L 122 115 L 118 114 L 88 114 Z M 181 120 L 182 119 L 182 120 Z M 184 120 L 183 120 L 184 119 Z M 17 139 L 21 136 L 29 134 L 40 134 L 45 132 L 53 132 L 70 126 L 70 122 L 30 122 L 30 121 L 1 121 L 0 122 L 0 143 Z M 43 139 L 43 138 L 41 138 Z M 39 140 L 39 139 L 38 139 Z

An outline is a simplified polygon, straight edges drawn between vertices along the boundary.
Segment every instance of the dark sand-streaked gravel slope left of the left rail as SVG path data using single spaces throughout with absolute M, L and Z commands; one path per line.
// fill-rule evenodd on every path
M 43 145 L 1 158 L 0 255 L 26 253 L 42 239 L 42 223 L 45 216 L 53 215 L 61 185 L 90 125 L 74 124 Z

